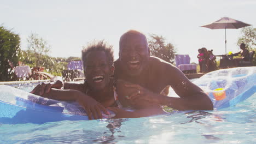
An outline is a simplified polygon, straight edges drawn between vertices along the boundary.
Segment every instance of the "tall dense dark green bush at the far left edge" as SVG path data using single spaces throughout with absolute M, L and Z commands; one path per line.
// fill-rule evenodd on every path
M 10 81 L 14 78 L 11 67 L 18 64 L 19 47 L 19 35 L 0 26 L 0 81 Z

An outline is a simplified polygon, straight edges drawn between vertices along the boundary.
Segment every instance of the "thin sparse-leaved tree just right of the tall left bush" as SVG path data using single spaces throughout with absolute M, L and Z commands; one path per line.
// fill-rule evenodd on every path
M 47 55 L 50 51 L 50 45 L 47 44 L 43 38 L 40 38 L 38 34 L 31 33 L 27 38 L 28 51 L 33 51 L 36 55 L 36 67 L 43 63 L 43 55 Z

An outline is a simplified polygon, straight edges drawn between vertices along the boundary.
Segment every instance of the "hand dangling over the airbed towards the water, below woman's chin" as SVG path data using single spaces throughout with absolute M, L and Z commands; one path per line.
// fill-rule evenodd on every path
M 103 105 L 88 95 L 79 95 L 77 102 L 86 110 L 89 119 L 92 119 L 92 116 L 94 116 L 94 119 L 102 118 L 101 111 L 106 115 L 110 115 Z

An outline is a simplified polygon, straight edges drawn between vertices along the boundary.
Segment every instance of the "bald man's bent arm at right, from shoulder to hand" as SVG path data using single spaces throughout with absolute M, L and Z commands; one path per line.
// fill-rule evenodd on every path
M 158 79 L 161 79 L 160 82 L 170 85 L 180 98 L 167 97 L 150 92 L 148 89 L 139 85 L 126 84 L 126 87 L 137 89 L 137 91 L 128 95 L 129 97 L 127 99 L 168 105 L 176 110 L 213 110 L 212 101 L 200 87 L 189 81 L 178 68 L 168 64 L 165 67 L 165 70 L 162 70 L 165 74 L 158 75 Z

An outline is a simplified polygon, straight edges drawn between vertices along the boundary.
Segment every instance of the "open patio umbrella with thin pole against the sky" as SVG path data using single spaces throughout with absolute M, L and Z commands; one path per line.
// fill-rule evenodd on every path
M 226 53 L 226 29 L 238 29 L 241 27 L 247 27 L 251 26 L 245 22 L 238 21 L 231 19 L 229 17 L 222 17 L 222 19 L 219 19 L 216 22 L 213 22 L 209 25 L 201 26 L 201 27 L 206 27 L 206 28 L 211 28 L 211 29 L 224 29 L 225 28 L 225 53 Z

